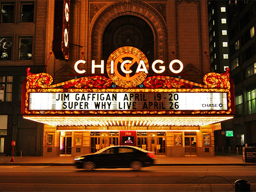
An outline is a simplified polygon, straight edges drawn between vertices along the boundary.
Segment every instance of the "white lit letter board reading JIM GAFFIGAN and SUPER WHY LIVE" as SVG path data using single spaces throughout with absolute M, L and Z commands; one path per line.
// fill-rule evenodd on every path
M 29 110 L 227 110 L 226 93 L 30 93 Z

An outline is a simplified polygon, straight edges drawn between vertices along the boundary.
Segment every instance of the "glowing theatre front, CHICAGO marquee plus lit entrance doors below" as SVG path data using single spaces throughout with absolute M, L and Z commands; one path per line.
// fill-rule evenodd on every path
M 74 65 L 77 76 L 84 73 L 83 62 Z M 215 154 L 212 124 L 234 113 L 228 70 L 208 73 L 199 84 L 174 77 L 183 69 L 180 60 L 165 69 L 162 60 L 148 63 L 134 47 L 117 49 L 106 63 L 91 62 L 91 76 L 57 84 L 49 74 L 28 69 L 22 113 L 45 124 L 44 156 L 76 156 L 119 144 L 173 157 Z M 104 65 L 108 76 L 94 74 Z M 148 74 L 150 65 L 155 74 Z

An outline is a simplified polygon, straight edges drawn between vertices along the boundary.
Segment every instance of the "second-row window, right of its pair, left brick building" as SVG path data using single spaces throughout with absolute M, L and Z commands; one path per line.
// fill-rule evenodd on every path
M 32 37 L 19 37 L 18 39 L 18 59 L 32 59 Z

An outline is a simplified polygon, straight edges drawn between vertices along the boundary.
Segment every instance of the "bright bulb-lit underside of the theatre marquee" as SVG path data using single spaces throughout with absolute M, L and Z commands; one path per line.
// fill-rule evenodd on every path
M 34 115 L 23 117 L 53 126 L 203 126 L 233 118 L 233 116 L 91 117 Z

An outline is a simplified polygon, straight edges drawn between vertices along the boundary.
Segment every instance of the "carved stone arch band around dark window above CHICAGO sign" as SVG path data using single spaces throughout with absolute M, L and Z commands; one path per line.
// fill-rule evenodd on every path
M 122 15 L 134 15 L 142 18 L 151 27 L 154 34 L 155 53 L 157 59 L 167 61 L 167 30 L 162 15 L 151 5 L 139 1 L 118 1 L 106 7 L 91 20 L 89 39 L 90 60 L 102 58 L 102 38 L 106 26 Z

